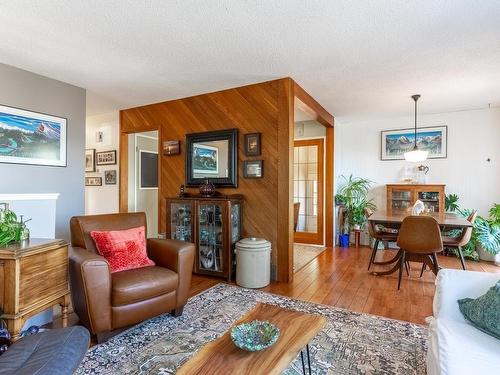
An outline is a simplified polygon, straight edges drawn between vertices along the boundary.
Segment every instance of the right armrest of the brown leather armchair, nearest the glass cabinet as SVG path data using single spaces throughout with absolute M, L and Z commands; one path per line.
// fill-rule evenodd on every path
M 177 307 L 186 304 L 191 288 L 191 275 L 194 265 L 194 245 L 176 240 L 148 239 L 148 256 L 160 267 L 177 272 Z

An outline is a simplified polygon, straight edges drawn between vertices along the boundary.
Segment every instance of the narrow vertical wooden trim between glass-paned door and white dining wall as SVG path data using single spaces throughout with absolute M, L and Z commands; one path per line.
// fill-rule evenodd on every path
M 325 246 L 333 247 L 334 244 L 334 128 L 326 127 L 325 141 Z

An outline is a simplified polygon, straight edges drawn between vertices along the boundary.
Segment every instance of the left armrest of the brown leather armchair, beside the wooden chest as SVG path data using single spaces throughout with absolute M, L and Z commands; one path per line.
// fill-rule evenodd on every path
M 81 247 L 70 247 L 69 278 L 78 318 L 94 334 L 111 331 L 111 275 L 106 259 Z

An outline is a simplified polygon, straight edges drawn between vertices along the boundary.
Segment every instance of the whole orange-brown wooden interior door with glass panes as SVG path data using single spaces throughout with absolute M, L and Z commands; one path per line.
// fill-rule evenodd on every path
M 323 239 L 323 139 L 294 142 L 293 201 L 294 242 L 322 245 Z

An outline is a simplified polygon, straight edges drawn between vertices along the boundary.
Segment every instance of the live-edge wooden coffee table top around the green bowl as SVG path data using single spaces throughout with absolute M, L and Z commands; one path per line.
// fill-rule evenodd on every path
M 260 352 L 247 352 L 231 341 L 231 329 L 206 344 L 177 374 L 281 374 L 326 324 L 322 316 L 263 303 L 235 323 L 267 320 L 280 329 L 278 341 Z

